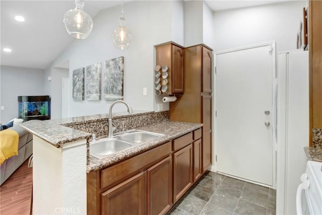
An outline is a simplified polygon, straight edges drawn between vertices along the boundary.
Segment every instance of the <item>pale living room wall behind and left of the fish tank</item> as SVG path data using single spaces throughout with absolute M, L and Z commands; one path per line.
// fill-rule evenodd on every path
M 18 96 L 44 94 L 44 70 L 14 66 L 1 66 L 1 123 L 18 118 Z

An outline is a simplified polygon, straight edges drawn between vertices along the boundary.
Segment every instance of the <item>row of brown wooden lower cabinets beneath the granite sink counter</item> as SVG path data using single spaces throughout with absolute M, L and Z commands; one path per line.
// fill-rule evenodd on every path
M 211 165 L 210 138 L 199 128 L 87 174 L 88 214 L 166 214 Z

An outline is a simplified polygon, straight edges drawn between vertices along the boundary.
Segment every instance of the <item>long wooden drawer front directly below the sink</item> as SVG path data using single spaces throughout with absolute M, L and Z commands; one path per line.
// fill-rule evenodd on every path
M 153 162 L 156 162 L 170 153 L 171 141 L 102 170 L 102 189 L 105 189 L 112 184 L 116 184 L 117 182 L 119 183 L 138 171 L 144 171 L 144 168 L 148 168 L 148 165 L 152 165 Z

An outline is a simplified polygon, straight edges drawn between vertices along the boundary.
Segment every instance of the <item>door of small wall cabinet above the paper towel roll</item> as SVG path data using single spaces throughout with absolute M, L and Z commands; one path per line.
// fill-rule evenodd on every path
M 183 93 L 184 91 L 184 69 L 183 49 L 172 45 L 172 93 Z

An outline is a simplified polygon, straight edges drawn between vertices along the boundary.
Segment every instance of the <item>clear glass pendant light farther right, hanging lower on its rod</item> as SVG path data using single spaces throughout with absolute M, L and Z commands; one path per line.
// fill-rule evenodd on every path
M 127 49 L 130 46 L 132 35 L 129 30 L 125 28 L 125 18 L 123 15 L 124 1 L 121 2 L 121 17 L 119 19 L 120 27 L 115 29 L 112 33 L 112 40 L 114 45 L 119 49 Z

